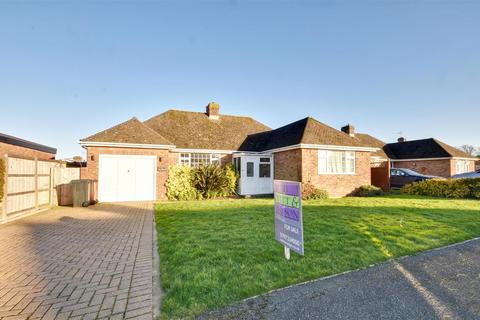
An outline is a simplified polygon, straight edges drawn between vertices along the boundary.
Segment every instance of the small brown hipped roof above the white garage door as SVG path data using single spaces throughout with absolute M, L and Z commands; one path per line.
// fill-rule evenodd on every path
M 172 145 L 170 141 L 153 131 L 137 118 L 132 118 L 93 136 L 82 139 L 81 141 Z

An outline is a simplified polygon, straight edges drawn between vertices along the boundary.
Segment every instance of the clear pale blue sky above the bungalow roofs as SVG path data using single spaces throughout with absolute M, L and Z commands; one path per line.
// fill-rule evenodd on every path
M 480 145 L 480 2 L 0 2 L 0 132 L 78 139 L 167 109 L 313 116 Z

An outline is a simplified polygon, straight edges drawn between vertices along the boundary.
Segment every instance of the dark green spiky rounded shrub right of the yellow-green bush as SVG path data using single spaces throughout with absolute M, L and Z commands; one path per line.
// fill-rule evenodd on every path
M 231 169 L 222 168 L 218 164 L 209 164 L 194 169 L 193 183 L 204 198 L 212 199 L 231 195 L 236 179 L 233 184 Z

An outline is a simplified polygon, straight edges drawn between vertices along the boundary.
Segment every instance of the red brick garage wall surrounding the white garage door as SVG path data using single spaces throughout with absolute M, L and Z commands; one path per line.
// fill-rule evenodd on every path
M 87 167 L 82 168 L 82 179 L 98 180 L 98 161 L 100 154 L 119 154 L 119 155 L 145 155 L 157 156 L 162 160 L 157 160 L 157 200 L 166 199 L 166 186 L 168 178 L 168 167 L 178 163 L 179 153 L 172 153 L 168 150 L 157 149 L 134 149 L 134 148 L 111 148 L 111 147 L 88 147 L 87 148 Z M 92 160 L 93 156 L 93 160 Z

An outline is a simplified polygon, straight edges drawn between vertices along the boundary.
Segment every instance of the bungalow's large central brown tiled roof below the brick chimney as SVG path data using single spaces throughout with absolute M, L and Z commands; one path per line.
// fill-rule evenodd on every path
M 238 150 L 248 135 L 270 130 L 250 117 L 220 114 L 210 119 L 206 113 L 179 110 L 164 112 L 145 124 L 181 149 Z

